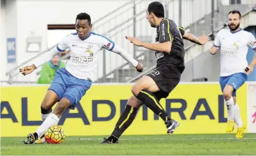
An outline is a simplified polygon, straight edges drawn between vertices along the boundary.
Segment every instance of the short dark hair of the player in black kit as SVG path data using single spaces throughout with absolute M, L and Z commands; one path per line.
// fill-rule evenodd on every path
M 165 8 L 163 8 L 163 4 L 160 2 L 151 2 L 148 5 L 148 13 L 154 13 L 156 17 L 165 17 Z

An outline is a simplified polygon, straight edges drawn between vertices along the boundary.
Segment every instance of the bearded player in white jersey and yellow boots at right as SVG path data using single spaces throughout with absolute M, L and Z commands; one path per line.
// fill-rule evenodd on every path
M 241 30 L 241 14 L 238 10 L 228 14 L 229 29 L 220 30 L 215 37 L 211 54 L 215 54 L 220 48 L 220 86 L 228 109 L 227 132 L 234 130 L 234 122 L 237 124 L 237 138 L 243 138 L 245 123 L 240 116 L 240 108 L 237 104 L 236 91 L 247 80 L 256 64 L 256 55 L 248 65 L 246 55 L 249 46 L 256 52 L 255 37 L 248 31 Z

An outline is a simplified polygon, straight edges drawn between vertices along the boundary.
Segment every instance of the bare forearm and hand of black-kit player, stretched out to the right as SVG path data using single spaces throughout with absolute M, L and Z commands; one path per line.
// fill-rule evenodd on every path
M 205 45 L 205 43 L 207 43 L 209 41 L 209 37 L 206 36 L 205 34 L 203 34 L 200 37 L 195 37 L 193 34 L 188 33 L 186 31 L 182 37 L 183 37 L 183 39 L 189 40 L 193 43 L 196 43 L 197 45 Z

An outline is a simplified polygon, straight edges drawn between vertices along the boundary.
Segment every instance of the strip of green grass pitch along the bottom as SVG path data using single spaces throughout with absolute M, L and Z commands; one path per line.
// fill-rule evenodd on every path
M 1 155 L 255 155 L 256 134 L 122 136 L 100 145 L 102 136 L 71 137 L 60 145 L 24 145 L 25 137 L 1 137 Z

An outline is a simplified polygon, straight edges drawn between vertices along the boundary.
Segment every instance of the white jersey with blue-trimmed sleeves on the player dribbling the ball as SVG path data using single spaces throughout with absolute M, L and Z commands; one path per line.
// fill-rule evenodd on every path
M 115 43 L 107 37 L 90 32 L 89 36 L 81 40 L 77 33 L 70 34 L 56 46 L 59 52 L 70 49 L 70 60 L 66 69 L 71 75 L 80 79 L 93 79 L 94 70 L 97 68 L 99 52 L 102 48 L 109 51 L 114 49 Z

